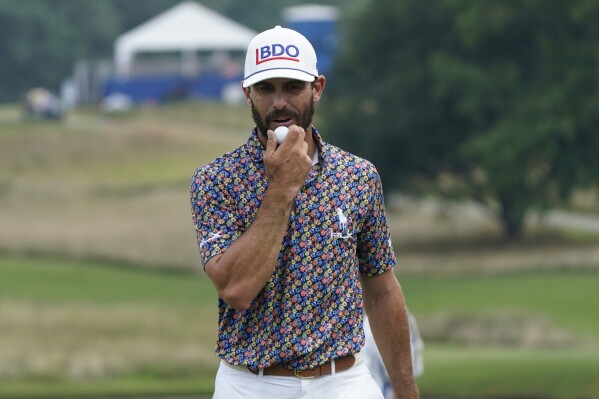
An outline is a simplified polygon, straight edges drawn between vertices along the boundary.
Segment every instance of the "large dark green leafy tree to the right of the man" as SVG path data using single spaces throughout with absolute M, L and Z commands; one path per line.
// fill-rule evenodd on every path
M 373 0 L 329 82 L 324 126 L 386 186 L 526 211 L 599 173 L 599 4 L 588 0 Z

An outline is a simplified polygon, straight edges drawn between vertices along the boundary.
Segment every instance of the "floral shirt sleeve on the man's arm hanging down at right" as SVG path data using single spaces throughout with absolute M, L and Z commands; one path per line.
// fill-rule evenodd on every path
M 393 269 L 397 261 L 387 225 L 381 178 L 374 166 L 372 166 L 367 179 L 371 208 L 358 233 L 357 255 L 360 273 L 376 276 Z

